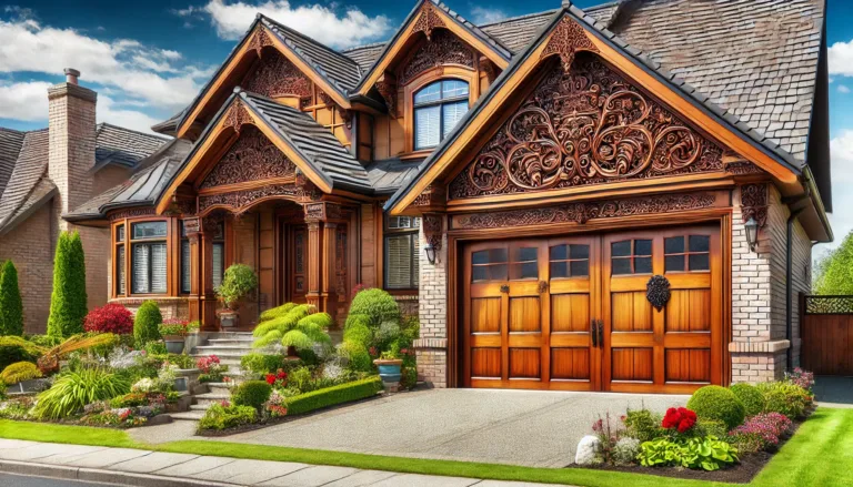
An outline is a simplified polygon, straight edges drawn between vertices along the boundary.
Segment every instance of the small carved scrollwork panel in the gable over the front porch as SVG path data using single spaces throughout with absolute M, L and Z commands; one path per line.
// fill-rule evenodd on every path
M 254 125 L 249 125 L 204 176 L 199 187 L 294 176 L 295 171 L 297 165 L 275 144 Z

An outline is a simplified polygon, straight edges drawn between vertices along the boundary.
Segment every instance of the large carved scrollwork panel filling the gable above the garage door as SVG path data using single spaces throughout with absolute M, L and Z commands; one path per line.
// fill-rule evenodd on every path
M 555 65 L 450 185 L 452 199 L 721 171 L 722 150 L 591 54 Z

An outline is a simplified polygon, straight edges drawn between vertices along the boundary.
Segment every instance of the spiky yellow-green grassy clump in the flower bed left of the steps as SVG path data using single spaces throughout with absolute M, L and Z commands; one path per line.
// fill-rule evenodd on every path
M 40 419 L 61 419 L 82 410 L 87 404 L 109 400 L 129 392 L 130 384 L 106 368 L 71 371 L 39 394 L 33 415 Z

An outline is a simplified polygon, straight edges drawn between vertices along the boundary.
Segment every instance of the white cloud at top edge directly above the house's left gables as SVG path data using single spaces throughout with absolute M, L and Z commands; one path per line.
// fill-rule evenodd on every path
M 368 17 L 355 8 L 340 11 L 334 7 L 334 3 L 331 7 L 317 3 L 291 6 L 288 0 L 267 0 L 257 4 L 210 0 L 202 9 L 189 7 L 175 13 L 185 18 L 203 10 L 210 16 L 220 38 L 240 39 L 260 12 L 332 48 L 374 41 L 391 30 L 385 16 Z

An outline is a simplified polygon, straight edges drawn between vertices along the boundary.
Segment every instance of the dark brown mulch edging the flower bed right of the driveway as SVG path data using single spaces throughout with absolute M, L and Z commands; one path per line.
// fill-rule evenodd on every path
M 807 414 L 811 415 L 813 410 L 814 409 L 810 410 Z M 794 428 L 791 432 L 791 435 L 780 440 L 779 448 L 782 448 L 782 445 L 787 443 L 787 440 L 791 439 L 794 436 L 794 434 L 796 434 L 796 430 L 800 429 L 800 425 L 802 425 L 803 422 L 804 420 L 794 422 Z M 682 467 L 643 467 L 640 465 L 580 466 L 580 465 L 573 464 L 566 468 L 590 468 L 595 470 L 624 471 L 628 474 L 658 475 L 661 477 L 683 478 L 689 480 L 723 481 L 729 484 L 749 484 L 752 481 L 753 478 L 755 478 L 756 475 L 759 475 L 761 469 L 764 468 L 765 465 L 767 465 L 767 463 L 773 458 L 773 455 L 774 453 L 770 453 L 770 452 L 757 452 L 754 454 L 742 455 L 740 463 L 726 468 L 714 470 L 714 471 L 692 470 L 690 468 L 682 468 Z

